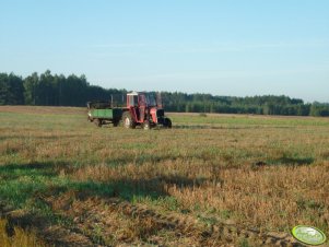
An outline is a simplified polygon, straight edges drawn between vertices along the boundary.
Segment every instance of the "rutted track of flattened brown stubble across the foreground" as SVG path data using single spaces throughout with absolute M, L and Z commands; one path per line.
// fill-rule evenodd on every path
M 230 243 L 238 237 L 251 239 L 258 246 L 304 246 L 286 233 L 262 233 L 257 230 L 243 230 L 232 222 L 221 222 L 211 226 L 204 226 L 192 217 L 177 214 L 165 215 L 118 198 L 108 200 L 89 198 L 87 200 L 77 200 L 72 204 L 70 203 L 71 197 L 72 193 L 69 197 L 67 195 L 62 198 L 43 198 L 43 200 L 51 204 L 58 213 L 73 216 L 77 223 L 75 227 L 48 226 L 42 224 L 43 219 L 36 215 L 20 210 L 11 211 L 3 204 L 0 205 L 0 215 L 5 216 L 11 224 L 22 227 L 37 225 L 36 230 L 40 237 L 49 244 L 58 246 L 99 246 L 99 244 L 101 246 L 107 246 L 106 240 L 102 238 L 96 239 L 95 243 L 93 236 L 87 232 L 93 232 L 95 227 L 101 226 L 104 232 L 103 236 L 106 236 L 106 231 L 108 233 L 111 232 L 113 222 L 108 215 L 113 214 L 125 214 L 130 221 L 138 220 L 140 224 L 151 221 L 153 226 L 156 225 L 158 228 L 173 231 L 176 237 L 189 239 L 191 244 L 193 243 L 193 246 L 216 246 L 219 243 L 227 243 L 223 244 L 223 246 L 232 246 Z M 104 205 L 106 205 L 106 209 L 104 209 Z M 120 240 L 127 240 L 125 237 Z M 150 245 L 150 240 L 142 244 Z M 154 239 L 151 244 L 163 246 L 161 239 Z

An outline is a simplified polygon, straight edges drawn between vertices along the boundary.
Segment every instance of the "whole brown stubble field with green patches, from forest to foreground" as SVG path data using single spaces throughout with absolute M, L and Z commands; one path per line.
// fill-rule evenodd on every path
M 97 128 L 84 108 L 1 106 L 0 242 L 15 226 L 69 246 L 295 246 L 298 224 L 329 234 L 328 118 L 168 116 L 173 129 L 145 131 Z

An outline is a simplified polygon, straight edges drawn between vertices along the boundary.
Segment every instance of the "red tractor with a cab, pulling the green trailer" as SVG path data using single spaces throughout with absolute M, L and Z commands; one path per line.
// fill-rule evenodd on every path
M 172 120 L 164 116 L 160 96 L 154 93 L 132 92 L 127 94 L 127 109 L 122 114 L 122 124 L 126 128 L 141 126 L 151 129 L 157 125 L 172 128 Z

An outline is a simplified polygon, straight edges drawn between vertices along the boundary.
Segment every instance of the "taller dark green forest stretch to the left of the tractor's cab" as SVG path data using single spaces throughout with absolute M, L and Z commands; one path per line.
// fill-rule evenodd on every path
M 26 78 L 0 73 L 0 105 L 85 106 L 89 101 L 108 101 L 126 90 L 91 85 L 85 75 L 32 73 Z

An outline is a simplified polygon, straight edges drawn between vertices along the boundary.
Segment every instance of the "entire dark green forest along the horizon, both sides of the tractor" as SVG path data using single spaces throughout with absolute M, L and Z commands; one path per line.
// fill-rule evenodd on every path
M 36 72 L 22 78 L 0 73 L 0 105 L 85 106 L 90 101 L 110 101 L 124 104 L 127 90 L 91 85 L 85 75 L 64 77 Z M 161 92 L 167 111 L 225 113 L 289 116 L 329 116 L 329 104 L 287 96 L 232 97 L 211 94 Z

